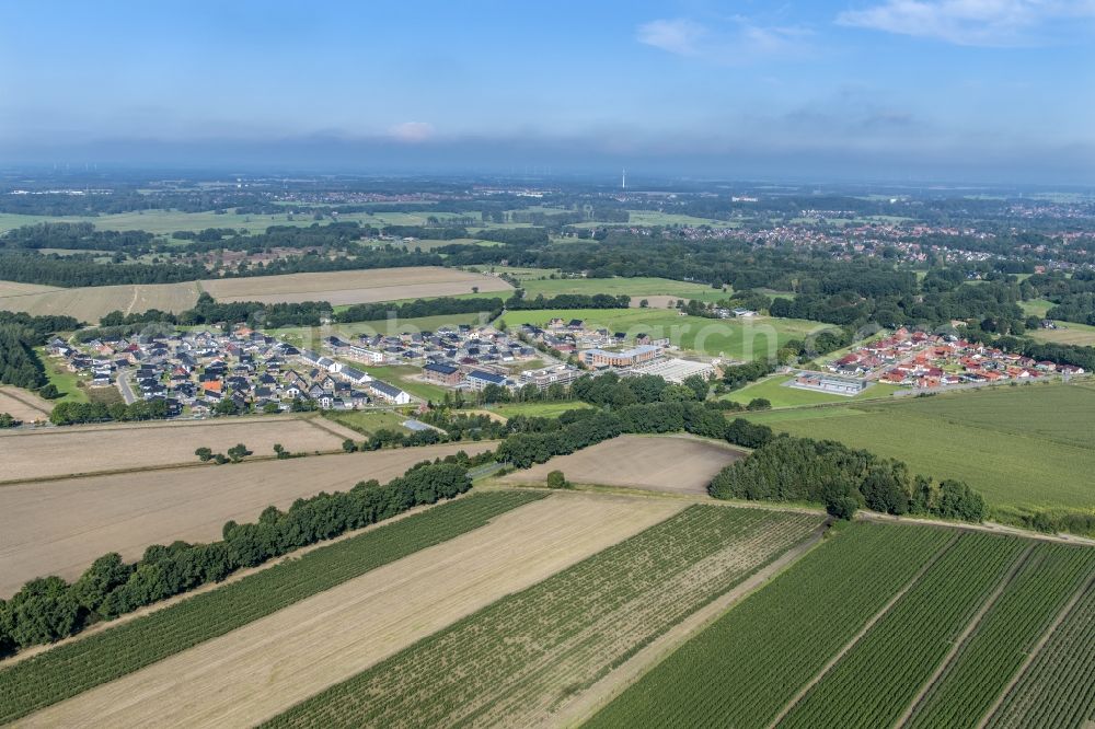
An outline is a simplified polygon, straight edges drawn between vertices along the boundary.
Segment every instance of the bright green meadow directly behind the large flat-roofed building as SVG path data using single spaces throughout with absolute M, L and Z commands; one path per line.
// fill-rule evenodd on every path
M 774 358 L 780 347 L 789 339 L 802 339 L 827 328 L 825 324 L 800 319 L 758 316 L 716 320 L 680 316 L 676 311 L 664 309 L 549 309 L 511 311 L 503 316 L 510 328 L 525 323 L 545 326 L 554 317 L 564 321 L 580 319 L 587 328 L 623 332 L 629 338 L 638 334 L 668 337 L 671 344 L 682 349 L 737 360 Z

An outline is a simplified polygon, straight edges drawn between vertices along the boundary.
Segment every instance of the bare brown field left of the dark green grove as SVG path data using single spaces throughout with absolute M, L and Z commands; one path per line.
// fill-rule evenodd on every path
M 685 436 L 620 436 L 516 471 L 508 484 L 543 484 L 562 471 L 575 484 L 626 486 L 647 490 L 706 494 L 707 484 L 744 455 L 725 443 Z

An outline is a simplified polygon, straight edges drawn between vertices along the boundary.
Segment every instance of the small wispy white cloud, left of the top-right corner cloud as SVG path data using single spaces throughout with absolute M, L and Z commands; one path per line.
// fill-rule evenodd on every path
M 730 23 L 729 27 L 712 28 L 687 18 L 655 20 L 638 26 L 636 39 L 678 56 L 742 63 L 800 53 L 809 35 L 799 27 L 765 27 L 741 16 L 730 19 Z

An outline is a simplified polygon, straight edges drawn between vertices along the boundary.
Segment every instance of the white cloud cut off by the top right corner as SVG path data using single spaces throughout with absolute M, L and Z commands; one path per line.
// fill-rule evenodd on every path
M 837 18 L 841 25 L 969 46 L 1036 42 L 1047 23 L 1095 18 L 1095 0 L 886 0 Z

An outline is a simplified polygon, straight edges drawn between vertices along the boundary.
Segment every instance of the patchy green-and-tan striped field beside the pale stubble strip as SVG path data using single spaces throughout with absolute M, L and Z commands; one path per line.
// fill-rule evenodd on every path
M 804 540 L 820 518 L 692 506 L 277 717 L 277 727 L 530 727 Z

